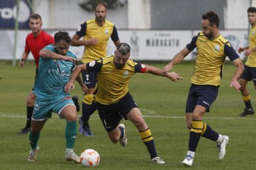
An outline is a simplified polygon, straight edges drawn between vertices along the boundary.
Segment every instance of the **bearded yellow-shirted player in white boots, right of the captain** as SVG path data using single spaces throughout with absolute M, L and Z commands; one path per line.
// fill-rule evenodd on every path
M 191 78 L 192 85 L 186 104 L 186 121 L 190 134 L 189 151 L 182 162 L 185 166 L 192 165 L 200 136 L 215 141 L 219 148 L 219 159 L 224 158 L 229 137 L 218 134 L 208 124 L 203 123 L 203 115 L 210 110 L 211 104 L 218 95 L 226 56 L 237 68 L 230 83 L 231 87 L 237 90 L 241 87 L 237 79 L 244 71 L 239 55 L 236 54 L 231 44 L 223 38 L 218 30 L 220 25 L 218 15 L 213 11 L 203 14 L 201 25 L 203 31 L 194 36 L 192 41 L 163 68 L 163 72 L 168 73 L 173 65 L 180 63 L 184 57 L 197 47 L 195 69 Z

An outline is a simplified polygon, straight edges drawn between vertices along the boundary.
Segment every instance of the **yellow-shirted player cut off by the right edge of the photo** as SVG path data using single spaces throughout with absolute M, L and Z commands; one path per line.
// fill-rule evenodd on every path
M 248 21 L 252 28 L 250 29 L 249 34 L 249 46 L 247 47 L 239 47 L 238 52 L 241 53 L 244 51 L 245 57 L 247 57 L 247 61 L 244 65 L 244 73 L 239 79 L 239 83 L 241 84 L 241 94 L 242 100 L 244 100 L 245 109 L 240 114 L 240 116 L 253 115 L 254 109 L 252 108 L 252 104 L 250 103 L 250 92 L 247 89 L 246 84 L 248 81 L 253 81 L 254 88 L 256 89 L 256 8 L 249 7 L 247 9 Z

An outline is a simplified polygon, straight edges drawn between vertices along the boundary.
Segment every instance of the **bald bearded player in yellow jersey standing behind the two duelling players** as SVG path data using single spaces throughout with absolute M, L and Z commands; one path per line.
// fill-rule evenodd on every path
M 107 12 L 105 4 L 96 4 L 95 18 L 82 23 L 72 37 L 71 46 L 85 46 L 82 63 L 92 62 L 93 60 L 105 57 L 109 37 L 111 37 L 116 46 L 120 43 L 116 26 L 105 19 Z M 83 39 L 79 40 L 80 38 Z M 84 96 L 82 103 L 79 131 L 85 136 L 93 136 L 88 121 L 90 115 L 96 110 L 95 103 L 93 102 L 96 73 L 83 71 L 82 77 L 83 83 L 88 87 L 88 94 Z

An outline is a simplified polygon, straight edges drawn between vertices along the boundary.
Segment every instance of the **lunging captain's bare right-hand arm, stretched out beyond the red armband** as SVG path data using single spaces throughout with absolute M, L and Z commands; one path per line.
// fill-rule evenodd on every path
M 156 68 L 150 65 L 146 65 L 146 73 L 150 73 L 152 75 L 157 75 L 157 76 L 164 76 L 167 77 L 169 79 L 171 79 L 171 81 L 178 81 L 179 79 L 182 79 L 181 76 L 179 76 L 177 73 L 171 72 L 171 73 L 163 73 L 163 71 L 160 68 Z

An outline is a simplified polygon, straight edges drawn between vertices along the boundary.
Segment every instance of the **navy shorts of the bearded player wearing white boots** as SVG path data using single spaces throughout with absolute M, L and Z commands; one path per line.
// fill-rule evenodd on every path
M 219 88 L 212 85 L 191 84 L 187 97 L 186 113 L 193 113 L 196 105 L 201 105 L 210 110 L 211 104 L 218 95 Z

